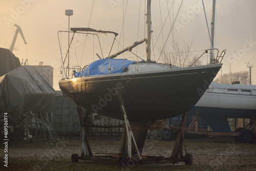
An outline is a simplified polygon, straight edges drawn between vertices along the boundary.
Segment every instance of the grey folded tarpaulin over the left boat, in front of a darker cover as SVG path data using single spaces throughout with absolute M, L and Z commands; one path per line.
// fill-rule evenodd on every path
M 0 77 L 0 119 L 16 123 L 29 111 L 52 112 L 55 91 L 44 73 L 33 66 L 21 66 Z

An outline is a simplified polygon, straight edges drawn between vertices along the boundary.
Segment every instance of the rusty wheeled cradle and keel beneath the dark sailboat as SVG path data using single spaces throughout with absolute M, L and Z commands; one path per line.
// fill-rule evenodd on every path
M 192 164 L 193 157 L 191 154 L 186 152 L 186 147 L 184 144 L 184 124 L 186 113 L 182 117 L 182 121 L 179 127 L 163 127 L 157 126 L 156 124 L 148 124 L 149 122 L 129 122 L 126 115 L 125 104 L 122 98 L 122 93 L 124 93 L 123 88 L 116 89 L 116 94 L 120 101 L 120 109 L 124 117 L 124 125 L 119 126 L 99 126 L 92 124 L 86 124 L 86 117 L 82 112 L 80 106 L 77 106 L 77 111 L 80 119 L 81 125 L 81 156 L 78 154 L 73 154 L 71 159 L 73 162 L 78 162 L 78 160 L 91 160 L 100 162 L 118 162 L 121 167 L 133 167 L 135 163 L 146 163 L 146 162 L 185 162 L 185 164 Z M 78 104 L 78 103 L 77 103 Z M 149 126 L 148 126 L 149 125 Z M 155 126 L 153 126 L 155 125 Z M 153 127 L 152 127 L 153 126 Z M 124 127 L 122 139 L 120 143 L 120 153 L 110 154 L 110 153 L 95 153 L 92 154 L 89 139 L 86 133 L 86 127 Z M 173 148 L 172 155 L 170 157 L 164 156 L 143 156 L 142 149 L 146 139 L 146 134 L 148 130 L 177 130 L 177 138 Z M 184 152 L 185 153 L 184 153 Z M 102 154 L 102 155 L 99 155 Z

